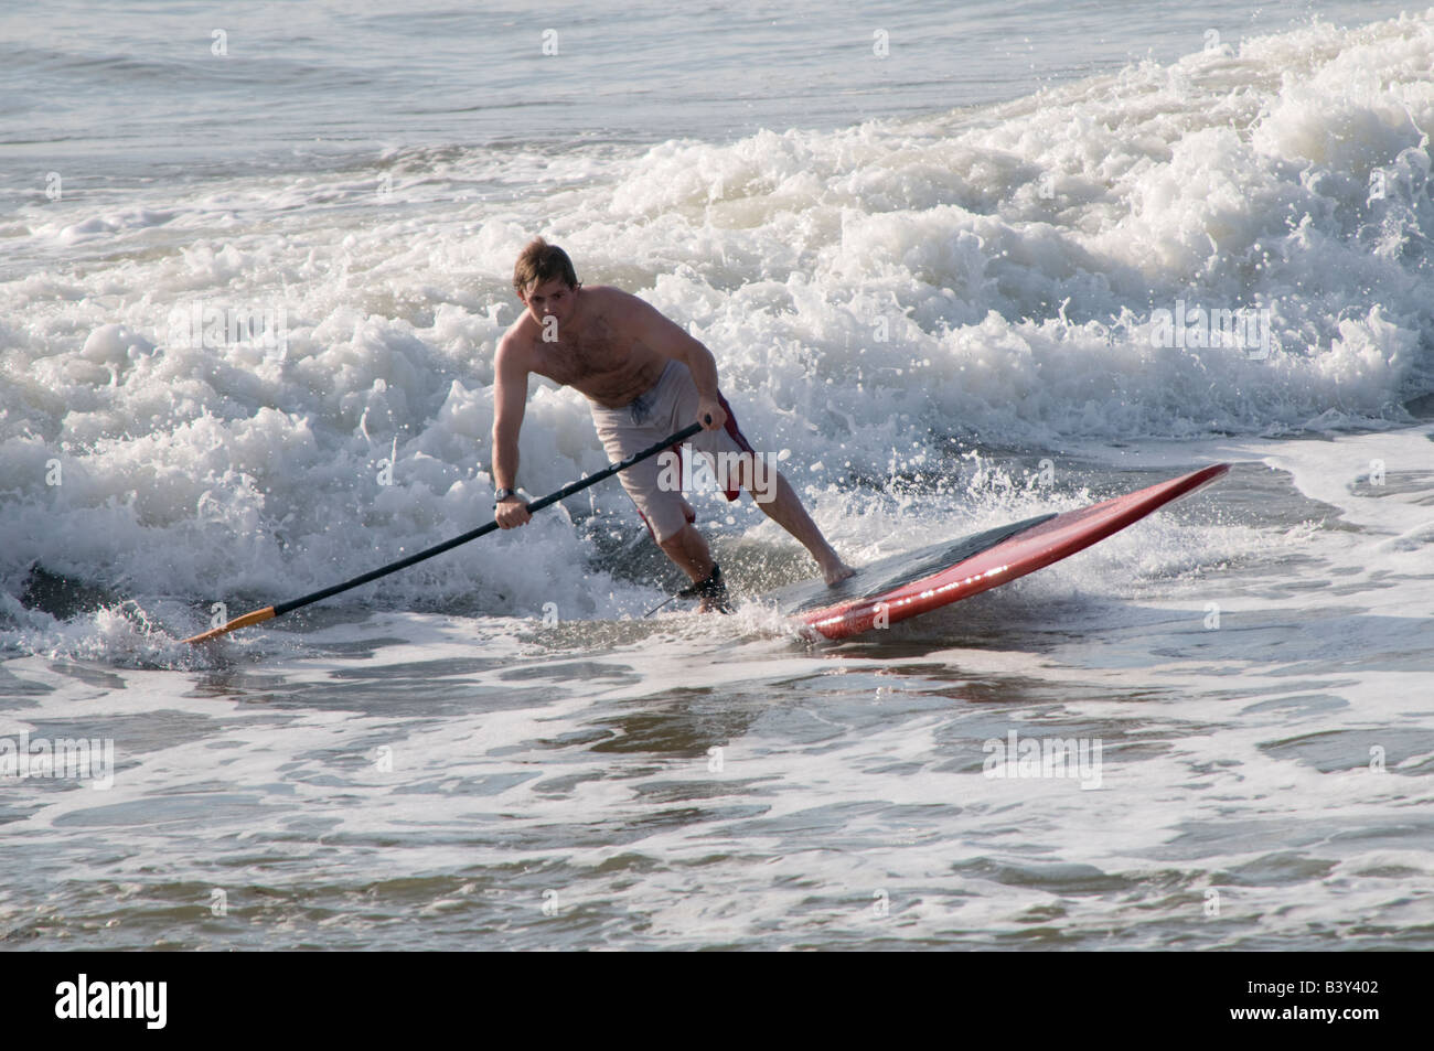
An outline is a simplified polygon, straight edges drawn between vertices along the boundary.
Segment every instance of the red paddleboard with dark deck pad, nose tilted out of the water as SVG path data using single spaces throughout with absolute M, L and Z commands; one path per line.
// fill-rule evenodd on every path
M 1228 463 L 1216 463 L 1088 508 L 1040 515 L 893 555 L 862 566 L 835 588 L 816 581 L 784 588 L 769 598 L 806 628 L 827 638 L 846 638 L 979 595 L 1068 558 L 1209 485 L 1229 469 Z

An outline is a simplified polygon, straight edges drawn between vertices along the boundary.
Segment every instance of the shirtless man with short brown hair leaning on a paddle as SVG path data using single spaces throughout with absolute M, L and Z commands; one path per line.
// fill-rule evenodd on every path
M 812 552 L 827 584 L 855 572 L 832 551 L 780 473 L 769 472 L 776 475 L 774 486 L 759 485 L 760 465 L 717 390 L 717 361 L 707 347 L 635 295 L 605 285 L 582 287 L 568 254 L 542 238 L 518 257 L 513 290 L 525 310 L 498 341 L 493 360 L 495 519 L 502 529 L 529 519 L 513 489 L 528 374 L 538 373 L 592 401 L 592 422 L 609 460 L 627 459 L 701 422 L 691 446 L 710 462 L 720 455 L 716 463 L 724 465 L 727 476 L 718 476 L 718 485 L 728 500 L 741 489 L 751 492 L 759 506 Z M 673 483 L 671 463 L 664 470 L 663 457 L 634 465 L 618 477 L 652 539 L 693 581 L 681 594 L 700 598 L 704 611 L 724 609 L 721 569 L 693 526 L 697 515 Z

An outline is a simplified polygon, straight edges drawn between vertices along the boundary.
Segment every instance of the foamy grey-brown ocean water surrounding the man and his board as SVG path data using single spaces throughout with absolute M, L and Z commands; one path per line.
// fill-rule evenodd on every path
M 1431 70 L 1397 4 L 4 9 L 0 945 L 1434 946 Z M 614 482 L 179 644 L 490 518 L 533 234 L 850 561 L 1233 469 L 843 644 L 711 493 L 737 615 L 644 618 Z M 605 463 L 538 381 L 521 453 Z

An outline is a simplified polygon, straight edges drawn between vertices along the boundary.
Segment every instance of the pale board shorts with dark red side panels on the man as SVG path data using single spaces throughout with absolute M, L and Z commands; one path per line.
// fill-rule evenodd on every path
M 737 429 L 731 406 L 727 404 L 721 391 L 717 393 L 717 401 L 727 413 L 727 426 L 718 430 L 698 432 L 688 439 L 688 444 L 707 457 L 713 476 L 717 477 L 727 499 L 736 500 L 741 496 L 737 479 L 720 477 L 713 456 L 728 453 L 724 460 L 731 465 L 730 455 L 751 455 L 753 449 Z M 598 439 L 607 450 L 608 460 L 617 463 L 695 423 L 697 403 L 697 384 L 693 383 L 691 371 L 681 361 L 668 361 L 657 384 L 621 409 L 607 409 L 594 403 L 592 423 L 598 429 Z M 678 457 L 683 456 L 681 446 L 673 446 L 673 452 Z M 687 500 L 683 499 L 681 489 L 671 485 L 675 473 L 671 457 L 665 452 L 618 473 L 622 488 L 632 498 L 638 515 L 647 522 L 648 532 L 658 543 L 680 533 L 695 518 Z

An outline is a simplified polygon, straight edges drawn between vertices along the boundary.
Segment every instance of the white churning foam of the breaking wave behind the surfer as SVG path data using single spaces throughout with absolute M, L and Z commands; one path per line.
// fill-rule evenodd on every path
M 932 436 L 1034 467 L 1071 442 L 1407 423 L 1434 381 L 1431 66 L 1434 13 L 1316 23 L 837 132 L 399 149 L 373 172 L 24 206 L 7 241 L 34 265 L 0 282 L 4 588 L 39 562 L 235 612 L 488 520 L 492 350 L 535 232 L 703 338 L 756 446 L 790 452 L 855 552 L 891 549 L 898 512 L 906 539 L 961 508 L 1034 513 L 1015 493 L 892 503 L 893 477 L 946 469 Z M 1152 346 L 1177 300 L 1268 308 L 1269 357 Z M 196 301 L 282 307 L 285 353 L 174 346 Z M 533 495 L 604 466 L 581 396 L 548 384 L 521 450 Z M 634 535 L 619 488 L 569 506 L 377 594 L 641 605 L 574 523 Z M 760 522 L 733 529 L 780 543 Z

